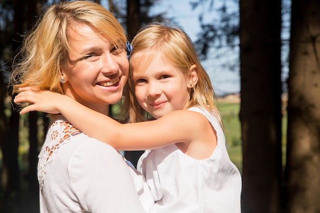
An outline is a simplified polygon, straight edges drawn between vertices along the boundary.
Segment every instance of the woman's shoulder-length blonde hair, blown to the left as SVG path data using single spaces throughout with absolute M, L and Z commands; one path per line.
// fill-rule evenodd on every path
M 68 33 L 74 25 L 87 25 L 112 44 L 125 48 L 126 35 L 115 16 L 99 4 L 88 1 L 63 2 L 50 6 L 25 37 L 13 59 L 10 85 L 33 86 L 64 93 L 61 67 L 65 65 Z

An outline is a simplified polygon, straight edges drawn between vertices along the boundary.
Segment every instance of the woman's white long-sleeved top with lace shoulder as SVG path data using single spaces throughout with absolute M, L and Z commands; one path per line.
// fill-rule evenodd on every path
M 152 211 L 143 176 L 115 149 L 81 133 L 61 115 L 52 121 L 39 154 L 40 212 Z

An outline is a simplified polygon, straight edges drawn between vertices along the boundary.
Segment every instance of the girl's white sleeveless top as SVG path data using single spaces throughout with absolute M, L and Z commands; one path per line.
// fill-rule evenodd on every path
M 217 147 L 203 160 L 184 154 L 175 144 L 141 156 L 137 169 L 146 177 L 155 200 L 153 212 L 241 212 L 241 175 L 228 156 L 218 121 L 202 108 L 188 110 L 207 117 L 217 132 Z

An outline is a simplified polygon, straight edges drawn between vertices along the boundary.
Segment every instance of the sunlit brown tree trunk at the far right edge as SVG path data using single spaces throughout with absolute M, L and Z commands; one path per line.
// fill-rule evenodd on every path
M 320 4 L 293 0 L 291 8 L 287 210 L 320 212 Z

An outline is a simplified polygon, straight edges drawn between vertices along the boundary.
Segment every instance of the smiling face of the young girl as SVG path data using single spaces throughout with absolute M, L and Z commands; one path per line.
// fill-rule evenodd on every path
M 135 98 L 156 119 L 184 108 L 190 98 L 188 79 L 182 72 L 157 54 L 144 72 L 133 69 Z

